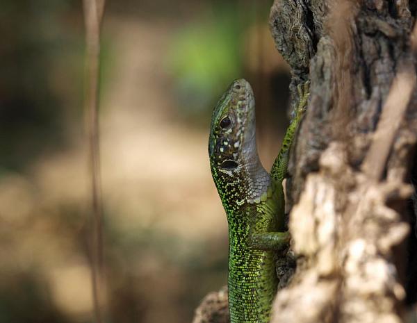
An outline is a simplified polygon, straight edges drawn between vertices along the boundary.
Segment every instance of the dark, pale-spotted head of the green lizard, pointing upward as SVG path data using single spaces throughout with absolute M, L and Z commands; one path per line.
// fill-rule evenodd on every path
M 224 208 L 252 203 L 268 185 L 255 131 L 254 93 L 247 81 L 236 80 L 214 108 L 208 140 L 211 174 Z

